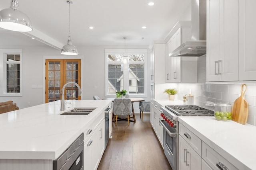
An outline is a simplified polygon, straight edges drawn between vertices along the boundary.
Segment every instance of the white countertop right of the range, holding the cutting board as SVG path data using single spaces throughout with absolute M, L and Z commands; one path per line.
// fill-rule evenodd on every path
M 256 170 L 256 126 L 213 116 L 180 116 L 178 121 L 239 170 Z

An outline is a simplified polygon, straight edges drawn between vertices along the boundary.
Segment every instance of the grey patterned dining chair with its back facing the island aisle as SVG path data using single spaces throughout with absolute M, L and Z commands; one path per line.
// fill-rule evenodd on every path
M 114 120 L 117 123 L 118 115 L 127 115 L 128 126 L 131 121 L 132 101 L 130 99 L 114 99 Z

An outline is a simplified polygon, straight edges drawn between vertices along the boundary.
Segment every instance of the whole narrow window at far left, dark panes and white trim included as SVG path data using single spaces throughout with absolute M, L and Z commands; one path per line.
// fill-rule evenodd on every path
M 1 49 L 0 50 L 0 85 L 1 96 L 22 96 L 22 50 Z M 2 67 L 1 67 L 2 65 Z

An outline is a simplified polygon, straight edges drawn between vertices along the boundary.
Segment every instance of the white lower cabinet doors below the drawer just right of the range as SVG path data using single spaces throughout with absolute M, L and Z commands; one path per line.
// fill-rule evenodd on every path
M 201 170 L 202 158 L 179 135 L 179 170 Z

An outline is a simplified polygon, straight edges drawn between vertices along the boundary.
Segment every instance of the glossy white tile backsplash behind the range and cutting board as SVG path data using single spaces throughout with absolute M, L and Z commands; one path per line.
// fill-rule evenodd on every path
M 245 100 L 249 105 L 247 123 L 256 126 L 256 84 L 246 84 Z M 194 95 L 194 105 L 230 103 L 241 95 L 241 84 L 178 84 L 178 100 Z

